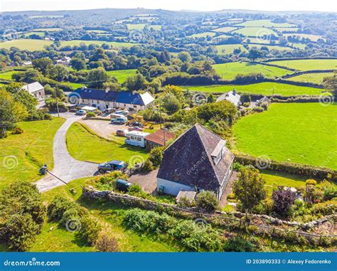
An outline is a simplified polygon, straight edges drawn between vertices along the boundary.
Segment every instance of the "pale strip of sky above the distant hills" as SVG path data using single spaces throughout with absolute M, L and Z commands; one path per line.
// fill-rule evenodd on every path
M 0 11 L 148 8 L 215 11 L 253 9 L 262 11 L 337 11 L 332 0 L 0 0 Z

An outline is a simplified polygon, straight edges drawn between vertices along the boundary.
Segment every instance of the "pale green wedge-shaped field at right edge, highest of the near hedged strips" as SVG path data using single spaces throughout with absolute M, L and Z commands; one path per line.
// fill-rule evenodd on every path
M 337 59 L 281 60 L 269 63 L 296 70 L 337 70 Z

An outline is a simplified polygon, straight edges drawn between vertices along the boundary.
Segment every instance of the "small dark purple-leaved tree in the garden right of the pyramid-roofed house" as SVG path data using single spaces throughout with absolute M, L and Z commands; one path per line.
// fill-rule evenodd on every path
M 290 188 L 284 190 L 279 187 L 272 192 L 272 200 L 274 201 L 274 211 L 280 216 L 287 216 L 290 206 L 296 201 L 296 193 L 292 192 Z

